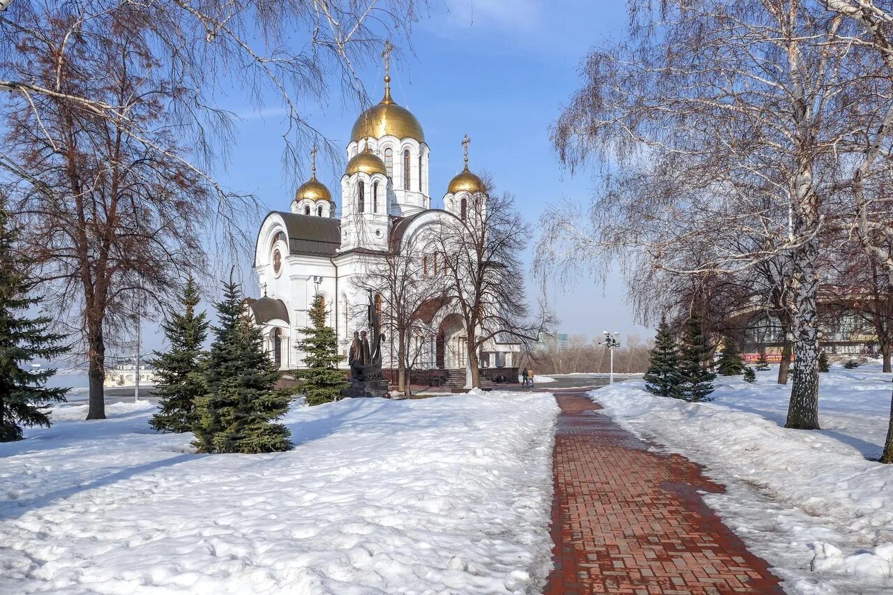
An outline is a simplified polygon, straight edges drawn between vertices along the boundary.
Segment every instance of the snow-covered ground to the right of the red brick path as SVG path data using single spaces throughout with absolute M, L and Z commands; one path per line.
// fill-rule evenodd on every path
M 714 402 L 657 398 L 642 381 L 591 394 L 628 430 L 705 465 L 705 495 L 791 593 L 893 593 L 893 465 L 880 465 L 890 374 L 871 363 L 821 374 L 822 431 L 781 427 L 789 386 L 719 377 Z

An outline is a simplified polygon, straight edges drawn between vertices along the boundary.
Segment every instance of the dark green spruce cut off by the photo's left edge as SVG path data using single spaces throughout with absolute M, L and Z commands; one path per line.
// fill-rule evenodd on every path
M 62 356 L 69 347 L 62 344 L 63 335 L 47 331 L 50 318 L 23 313 L 40 299 L 30 297 L 33 262 L 15 250 L 16 233 L 6 230 L 6 218 L 0 202 L 0 442 L 21 440 L 22 427 L 49 427 L 50 404 L 64 401 L 68 392 L 46 388 L 54 369 L 29 369 L 32 360 Z

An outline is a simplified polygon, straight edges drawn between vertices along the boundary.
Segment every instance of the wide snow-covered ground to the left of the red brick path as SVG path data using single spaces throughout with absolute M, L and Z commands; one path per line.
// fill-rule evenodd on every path
M 295 406 L 296 447 L 251 456 L 108 410 L 0 444 L 0 593 L 532 593 L 551 567 L 550 395 Z

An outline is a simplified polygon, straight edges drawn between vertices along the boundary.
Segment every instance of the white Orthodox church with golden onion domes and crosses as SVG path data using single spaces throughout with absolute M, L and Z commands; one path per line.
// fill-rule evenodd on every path
M 313 176 L 297 189 L 290 208 L 267 214 L 257 235 L 255 271 L 262 298 L 247 303 L 263 329 L 265 348 L 281 370 L 304 365 L 305 355 L 296 348 L 302 338 L 297 329 L 309 324 L 315 294 L 325 300 L 329 324 L 338 332 L 338 348 L 346 356 L 354 332 L 371 331 L 366 316 L 358 314 L 363 308 L 357 307 L 369 303 L 358 285 L 370 259 L 400 250 L 401 239 L 414 233 L 436 233 L 443 217 L 464 217 L 472 198 L 487 200 L 480 178 L 468 169 L 466 138 L 465 167 L 447 187 L 445 209 L 431 207 L 425 134 L 415 116 L 394 103 L 390 77 L 384 80 L 381 102 L 363 112 L 351 130 L 341 177 L 341 218 L 330 190 L 316 179 L 314 157 Z M 449 303 L 425 317 L 430 339 L 420 346 L 416 370 L 467 385 L 462 317 Z M 387 334 L 382 351 L 383 367 L 396 368 L 396 349 Z M 489 341 L 476 355 L 482 378 L 516 380 L 517 369 L 512 368 L 519 352 L 517 343 Z

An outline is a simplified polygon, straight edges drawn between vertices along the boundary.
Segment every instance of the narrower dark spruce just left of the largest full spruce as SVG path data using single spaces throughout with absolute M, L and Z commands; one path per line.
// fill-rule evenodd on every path
M 192 432 L 196 427 L 196 399 L 206 392 L 202 346 L 208 336 L 204 312 L 196 314 L 199 301 L 196 282 L 190 277 L 183 290 L 183 312 L 162 325 L 171 348 L 155 351 L 149 362 L 160 379 L 155 390 L 159 411 L 149 425 L 159 432 Z

